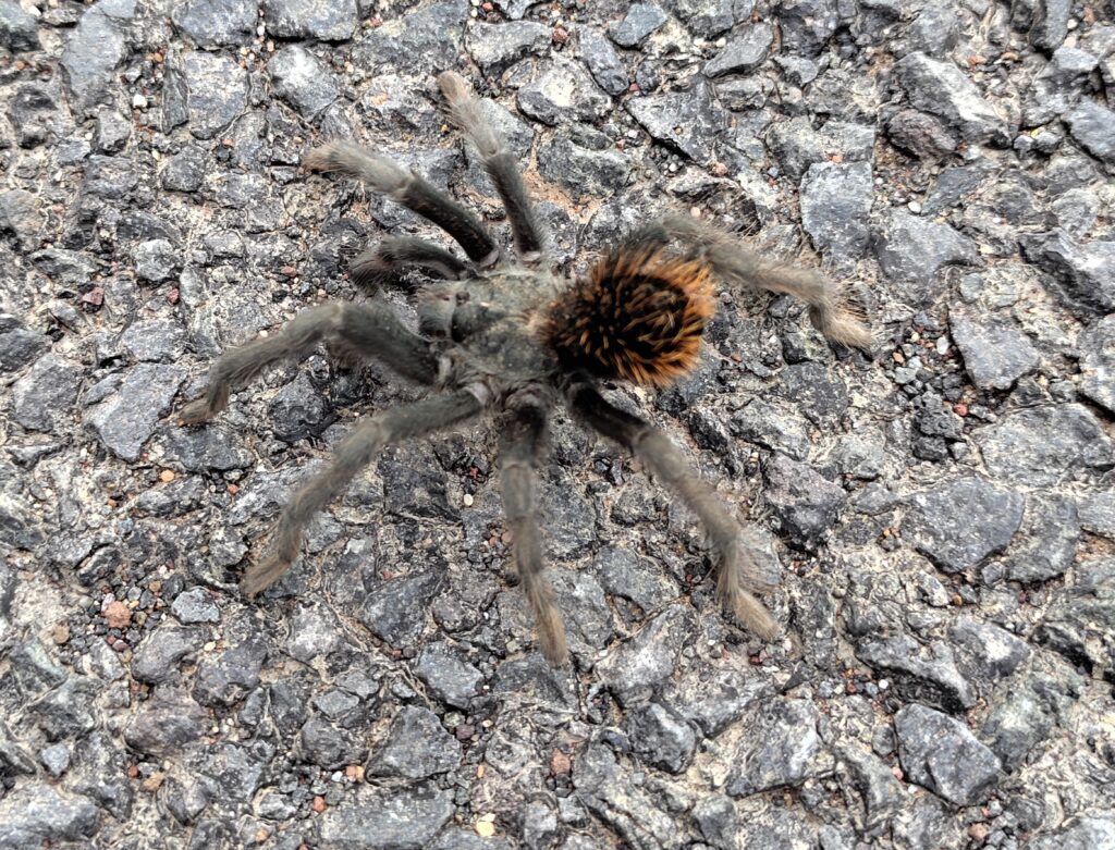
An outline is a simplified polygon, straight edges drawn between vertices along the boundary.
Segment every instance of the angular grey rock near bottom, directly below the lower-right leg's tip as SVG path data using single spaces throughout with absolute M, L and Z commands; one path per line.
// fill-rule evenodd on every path
M 801 785 L 817 771 L 822 753 L 816 706 L 808 700 L 764 701 L 746 720 L 750 734 L 731 759 L 725 791 L 749 797 L 775 788 Z

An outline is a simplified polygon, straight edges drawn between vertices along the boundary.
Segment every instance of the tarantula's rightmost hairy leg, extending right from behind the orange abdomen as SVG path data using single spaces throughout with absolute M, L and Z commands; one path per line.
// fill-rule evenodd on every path
M 629 243 L 665 247 L 669 242 L 704 260 L 728 284 L 793 295 L 809 305 L 809 320 L 833 342 L 871 353 L 871 331 L 845 301 L 841 289 L 824 275 L 765 261 L 726 233 L 685 215 L 667 216 L 628 237 Z

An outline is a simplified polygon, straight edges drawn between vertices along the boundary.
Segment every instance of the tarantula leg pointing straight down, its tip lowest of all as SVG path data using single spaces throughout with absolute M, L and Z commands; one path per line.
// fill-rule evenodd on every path
M 513 404 L 500 451 L 500 486 L 503 512 L 512 534 L 512 557 L 523 595 L 534 612 L 539 645 L 553 666 L 565 662 L 565 629 L 554 602 L 554 592 L 543 575 L 542 540 L 539 535 L 535 465 L 546 430 L 546 410 L 534 399 Z

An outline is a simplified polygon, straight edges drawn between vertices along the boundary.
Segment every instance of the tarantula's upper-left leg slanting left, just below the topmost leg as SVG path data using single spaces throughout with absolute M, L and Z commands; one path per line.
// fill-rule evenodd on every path
M 428 218 L 455 238 L 468 258 L 487 267 L 500 258 L 500 248 L 479 219 L 425 178 L 387 157 L 347 141 L 330 141 L 306 155 L 303 164 L 316 172 L 340 172 L 367 183 L 408 209 Z

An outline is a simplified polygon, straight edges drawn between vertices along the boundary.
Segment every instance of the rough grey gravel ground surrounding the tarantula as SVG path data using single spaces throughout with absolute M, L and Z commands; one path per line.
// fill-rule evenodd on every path
M 0 0 L 0 848 L 1115 848 L 1115 27 L 1068 0 Z M 571 270 L 680 206 L 854 281 L 878 356 L 727 292 L 615 388 L 770 548 L 554 423 L 574 664 L 507 580 L 478 426 L 401 446 L 263 599 L 291 486 L 413 399 L 323 354 L 175 427 L 223 346 L 399 207 L 353 136 L 498 206 L 463 69 Z M 401 295 L 392 295 L 413 320 Z

